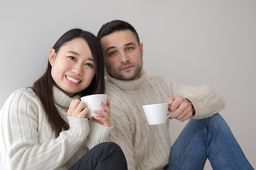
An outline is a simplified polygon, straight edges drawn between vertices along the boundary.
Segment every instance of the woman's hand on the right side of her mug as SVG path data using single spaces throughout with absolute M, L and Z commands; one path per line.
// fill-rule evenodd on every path
M 106 127 L 111 127 L 110 122 L 110 98 L 107 98 L 107 105 L 103 102 L 100 102 L 100 105 L 104 108 L 105 111 L 94 111 L 94 113 L 102 115 L 95 116 L 94 118 L 90 118 L 92 122 L 100 123 Z

